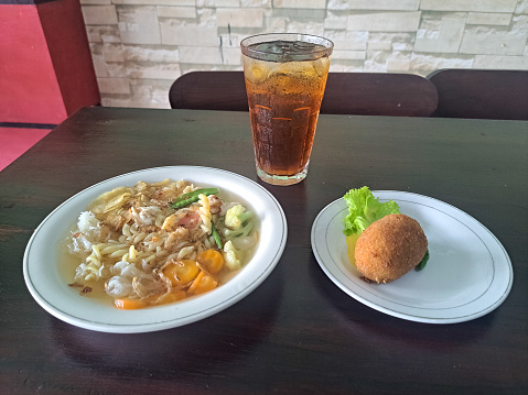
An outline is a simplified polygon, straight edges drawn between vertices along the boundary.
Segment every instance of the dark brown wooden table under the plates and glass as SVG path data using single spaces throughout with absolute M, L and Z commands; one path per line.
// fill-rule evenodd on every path
M 288 243 L 249 296 L 202 321 L 111 334 L 43 310 L 22 275 L 34 229 L 106 178 L 165 165 L 257 180 L 244 112 L 82 109 L 0 173 L 0 387 L 4 394 L 521 394 L 528 389 L 528 123 L 322 116 L 308 178 L 262 184 Z M 418 323 L 340 290 L 311 249 L 313 220 L 349 188 L 408 190 L 476 218 L 514 285 L 493 312 Z

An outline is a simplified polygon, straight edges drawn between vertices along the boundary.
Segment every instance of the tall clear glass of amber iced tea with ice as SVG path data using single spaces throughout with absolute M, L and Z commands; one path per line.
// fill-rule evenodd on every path
M 258 176 L 273 185 L 306 177 L 334 44 L 294 33 L 240 43 Z

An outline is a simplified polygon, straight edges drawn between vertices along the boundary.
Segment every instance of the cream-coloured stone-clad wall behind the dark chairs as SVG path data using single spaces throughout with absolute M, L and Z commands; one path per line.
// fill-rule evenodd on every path
M 241 69 L 263 32 L 331 39 L 331 72 L 528 69 L 528 0 L 80 0 L 103 105 L 169 108 L 191 70 Z

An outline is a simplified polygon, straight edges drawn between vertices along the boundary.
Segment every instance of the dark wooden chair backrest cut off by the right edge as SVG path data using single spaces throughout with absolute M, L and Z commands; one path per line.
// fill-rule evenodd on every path
M 427 78 L 439 94 L 433 117 L 528 120 L 528 72 L 441 69 Z

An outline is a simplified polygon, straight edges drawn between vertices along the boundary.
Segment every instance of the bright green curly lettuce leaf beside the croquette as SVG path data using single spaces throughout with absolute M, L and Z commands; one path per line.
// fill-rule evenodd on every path
M 400 213 L 396 201 L 379 202 L 368 187 L 351 189 L 345 194 L 344 199 L 348 205 L 348 215 L 345 217 L 343 230 L 345 235 L 359 237 L 374 221 L 389 213 Z

